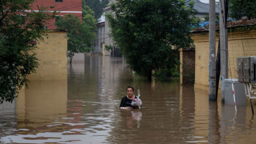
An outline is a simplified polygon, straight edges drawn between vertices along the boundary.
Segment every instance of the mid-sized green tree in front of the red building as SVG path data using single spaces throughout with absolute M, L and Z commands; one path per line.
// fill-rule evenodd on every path
M 69 37 L 67 56 L 70 58 L 70 63 L 72 63 L 75 53 L 84 53 L 86 50 L 92 49 L 91 45 L 97 30 L 97 23 L 93 14 L 94 12 L 87 5 L 83 5 L 82 22 L 78 16 L 67 14 L 55 23 L 59 29 L 67 29 L 69 31 L 67 34 Z

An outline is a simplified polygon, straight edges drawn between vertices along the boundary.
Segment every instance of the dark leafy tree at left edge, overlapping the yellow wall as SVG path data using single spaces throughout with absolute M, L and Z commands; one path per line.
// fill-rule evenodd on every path
M 56 12 L 47 13 L 47 8 L 38 7 L 34 12 L 34 0 L 0 1 L 0 104 L 12 102 L 19 90 L 27 86 L 26 76 L 38 66 L 34 40 L 43 40 L 45 24 L 54 19 Z M 25 10 L 29 10 L 25 11 Z

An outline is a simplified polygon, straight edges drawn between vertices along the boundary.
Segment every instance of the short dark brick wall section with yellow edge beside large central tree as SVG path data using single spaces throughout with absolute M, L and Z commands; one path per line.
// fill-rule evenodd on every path
M 181 84 L 191 84 L 195 78 L 195 49 L 180 49 Z

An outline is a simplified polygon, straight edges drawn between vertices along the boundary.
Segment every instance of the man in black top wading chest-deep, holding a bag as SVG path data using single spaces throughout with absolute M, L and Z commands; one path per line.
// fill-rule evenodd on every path
M 123 99 L 121 99 L 121 104 L 119 108 L 126 109 L 126 110 L 131 110 L 132 108 L 139 108 L 142 103 L 137 96 L 133 95 L 134 89 L 132 88 L 132 86 L 128 86 L 126 88 L 126 92 L 127 92 L 127 95 L 126 97 L 123 97 Z M 137 104 L 132 104 L 132 101 L 133 103 L 137 102 Z

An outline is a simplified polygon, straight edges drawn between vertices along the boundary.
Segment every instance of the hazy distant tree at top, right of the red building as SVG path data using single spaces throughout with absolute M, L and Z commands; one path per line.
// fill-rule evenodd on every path
M 104 8 L 108 5 L 109 0 L 85 0 L 85 2 L 83 5 L 88 5 L 95 12 L 95 19 L 100 21 L 100 17 L 104 12 Z

